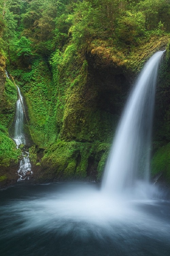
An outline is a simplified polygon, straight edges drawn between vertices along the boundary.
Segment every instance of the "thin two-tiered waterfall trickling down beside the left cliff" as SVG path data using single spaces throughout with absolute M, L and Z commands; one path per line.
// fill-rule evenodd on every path
M 17 100 L 17 107 L 16 107 L 16 116 L 15 116 L 15 132 L 14 132 L 14 141 L 17 145 L 17 148 L 19 145 L 26 144 L 26 138 L 23 132 L 23 120 L 24 120 L 24 105 L 23 105 L 23 98 L 20 92 L 19 87 L 17 86 L 18 90 L 18 100 Z M 22 156 L 23 158 L 20 160 L 20 166 L 18 170 L 18 175 L 20 178 L 18 181 L 25 180 L 26 177 L 22 179 L 23 176 L 27 175 L 28 172 L 32 174 L 33 172 L 31 171 L 31 163 L 29 159 L 29 152 L 22 150 Z M 28 176 L 29 179 L 29 176 Z

